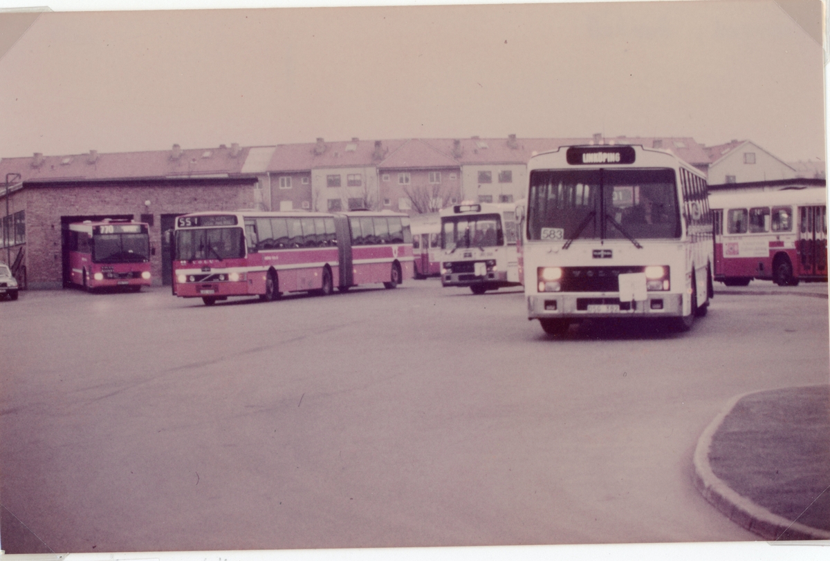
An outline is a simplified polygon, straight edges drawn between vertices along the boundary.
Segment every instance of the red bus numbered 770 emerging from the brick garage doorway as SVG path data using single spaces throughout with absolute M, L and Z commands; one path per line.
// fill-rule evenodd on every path
M 88 291 L 150 286 L 149 225 L 132 220 L 74 222 L 69 225 L 71 283 Z

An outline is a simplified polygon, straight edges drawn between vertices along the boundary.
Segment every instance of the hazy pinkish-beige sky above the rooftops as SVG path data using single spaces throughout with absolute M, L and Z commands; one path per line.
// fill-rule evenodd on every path
M 825 159 L 822 46 L 772 1 L 0 13 L 3 51 L 0 157 L 603 133 Z

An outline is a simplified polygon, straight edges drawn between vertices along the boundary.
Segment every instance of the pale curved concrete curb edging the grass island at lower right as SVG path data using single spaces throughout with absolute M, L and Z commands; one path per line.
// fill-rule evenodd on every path
M 764 390 L 766 391 L 766 390 Z M 776 515 L 763 506 L 756 505 L 745 496 L 739 495 L 726 485 L 725 481 L 715 476 L 709 463 L 709 452 L 717 429 L 720 428 L 726 415 L 735 407 L 740 399 L 747 395 L 761 394 L 763 391 L 753 391 L 740 394 L 726 405 L 725 409 L 706 427 L 697 441 L 693 462 L 695 464 L 695 486 L 706 501 L 726 515 L 735 524 L 758 534 L 769 540 L 793 539 L 830 539 L 830 531 L 818 530 L 808 525 L 787 520 Z

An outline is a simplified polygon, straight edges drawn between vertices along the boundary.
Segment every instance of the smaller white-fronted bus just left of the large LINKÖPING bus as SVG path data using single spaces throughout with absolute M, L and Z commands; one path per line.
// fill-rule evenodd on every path
M 515 203 L 467 203 L 442 210 L 441 283 L 474 294 L 520 284 Z

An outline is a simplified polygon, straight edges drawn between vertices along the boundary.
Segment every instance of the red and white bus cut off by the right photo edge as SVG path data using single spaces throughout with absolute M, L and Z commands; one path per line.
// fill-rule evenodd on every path
M 712 192 L 715 280 L 780 286 L 828 278 L 827 190 Z

